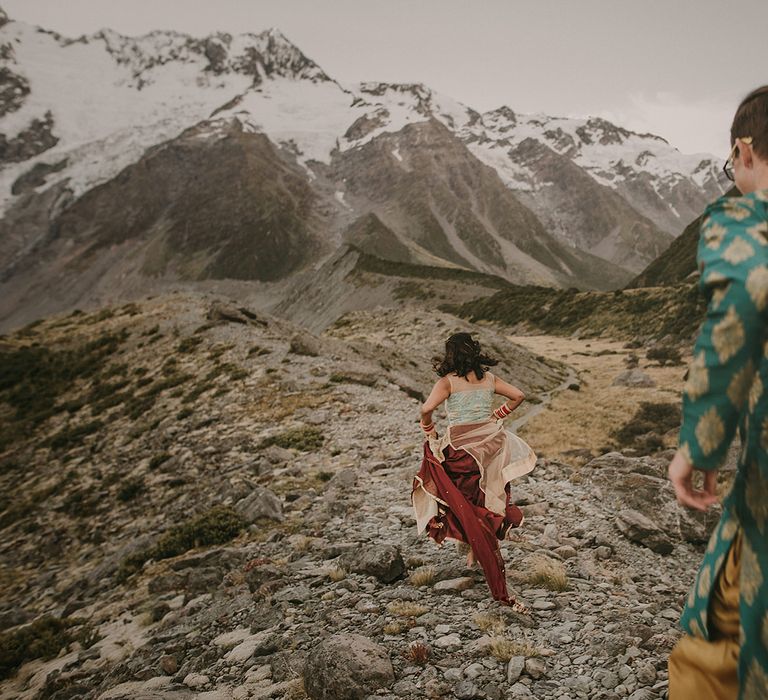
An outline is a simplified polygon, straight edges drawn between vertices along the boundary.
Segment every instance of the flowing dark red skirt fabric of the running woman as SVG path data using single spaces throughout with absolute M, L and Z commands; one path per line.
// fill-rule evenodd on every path
M 429 442 L 424 443 L 424 458 L 417 479 L 432 496 L 448 506 L 440 505 L 438 515 L 427 525 L 427 534 L 438 544 L 446 537 L 469 544 L 483 569 L 491 595 L 509 603 L 498 540 L 504 538 L 510 527 L 522 522 L 523 514 L 509 498 L 504 515 L 488 510 L 484 506 L 485 494 L 480 489 L 480 469 L 474 458 L 450 445 L 443 450 L 443 455 L 445 460 L 438 462 Z M 417 487 L 418 481 L 414 481 L 414 488 Z

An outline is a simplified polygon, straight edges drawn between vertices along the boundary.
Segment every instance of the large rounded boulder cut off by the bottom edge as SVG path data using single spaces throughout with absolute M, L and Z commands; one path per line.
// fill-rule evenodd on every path
M 303 675 L 312 700 L 363 700 L 395 681 L 386 649 L 359 634 L 335 634 L 318 644 Z

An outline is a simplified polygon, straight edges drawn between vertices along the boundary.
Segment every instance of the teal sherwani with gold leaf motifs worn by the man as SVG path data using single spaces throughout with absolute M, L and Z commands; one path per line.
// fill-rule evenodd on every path
M 697 469 L 725 460 L 736 430 L 742 449 L 681 618 L 710 639 L 707 611 L 739 528 L 739 700 L 768 698 L 768 190 L 723 197 L 707 208 L 698 247 L 707 315 L 683 392 L 680 446 Z

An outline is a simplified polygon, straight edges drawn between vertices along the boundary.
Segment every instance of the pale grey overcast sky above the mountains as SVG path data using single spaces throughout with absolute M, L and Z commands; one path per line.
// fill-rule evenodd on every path
M 768 82 L 768 0 L 0 0 L 79 36 L 278 27 L 341 82 L 423 82 L 485 111 L 604 116 L 727 155 Z

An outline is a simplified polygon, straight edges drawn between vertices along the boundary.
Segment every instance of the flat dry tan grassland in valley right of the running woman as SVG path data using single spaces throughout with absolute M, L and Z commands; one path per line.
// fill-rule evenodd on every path
M 645 358 L 642 348 L 629 350 L 620 341 L 550 335 L 510 336 L 510 340 L 572 369 L 566 382 L 542 395 L 539 406 L 512 424 L 540 456 L 584 461 L 588 453 L 597 455 L 601 447 L 610 444 L 611 432 L 632 417 L 641 401 L 680 401 L 686 366 L 659 367 Z M 632 352 L 640 358 L 638 368 L 656 382 L 655 387 L 613 386 Z M 687 365 L 688 358 L 684 359 Z M 574 382 L 578 391 L 567 388 Z M 583 455 L 579 451 L 584 451 Z

